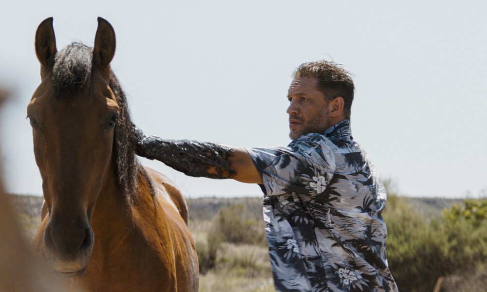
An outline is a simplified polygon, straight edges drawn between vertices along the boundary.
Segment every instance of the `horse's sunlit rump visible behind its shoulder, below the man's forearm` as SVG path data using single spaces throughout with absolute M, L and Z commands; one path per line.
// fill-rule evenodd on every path
M 179 215 L 181 215 L 187 225 L 188 212 L 186 200 L 176 183 L 174 183 L 164 174 L 152 168 L 149 168 L 147 166 L 144 166 L 144 168 L 146 169 L 147 173 L 150 175 L 152 181 L 155 184 L 154 186 L 157 190 L 158 199 L 162 199 L 163 201 L 175 207 L 176 210 L 179 212 Z

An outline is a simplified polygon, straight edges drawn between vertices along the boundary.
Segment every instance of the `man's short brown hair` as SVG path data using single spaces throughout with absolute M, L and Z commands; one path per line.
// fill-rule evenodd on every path
M 318 90 L 323 93 L 328 101 L 341 96 L 344 101 L 343 113 L 346 119 L 350 119 L 352 102 L 354 100 L 354 81 L 350 72 L 344 70 L 341 65 L 326 60 L 307 62 L 301 64 L 293 72 L 293 77 L 318 78 Z

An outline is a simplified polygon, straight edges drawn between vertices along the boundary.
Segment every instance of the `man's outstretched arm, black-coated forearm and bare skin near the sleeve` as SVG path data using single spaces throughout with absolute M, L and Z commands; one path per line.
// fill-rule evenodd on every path
M 244 148 L 188 140 L 145 137 L 140 129 L 137 155 L 155 159 L 193 177 L 234 179 L 242 183 L 262 183 L 250 155 Z

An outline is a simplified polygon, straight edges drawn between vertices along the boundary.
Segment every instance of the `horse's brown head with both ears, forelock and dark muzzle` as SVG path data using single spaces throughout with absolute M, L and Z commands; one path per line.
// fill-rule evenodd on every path
M 45 254 L 59 274 L 82 274 L 91 255 L 91 215 L 113 177 L 114 128 L 120 114 L 110 85 L 115 34 L 98 18 L 93 50 L 56 49 L 53 18 L 37 28 L 41 83 L 27 112 L 49 221 Z

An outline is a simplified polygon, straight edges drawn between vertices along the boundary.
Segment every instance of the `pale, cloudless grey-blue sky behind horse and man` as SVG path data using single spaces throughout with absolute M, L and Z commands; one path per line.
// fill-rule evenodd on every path
M 487 196 L 487 2 L 4 1 L 0 85 L 7 192 L 42 195 L 26 107 L 40 83 L 38 24 L 57 48 L 115 29 L 112 69 L 147 135 L 241 147 L 286 146 L 287 89 L 301 63 L 353 73 L 352 132 L 401 195 Z M 192 178 L 140 159 L 186 197 L 261 196 L 258 185 Z

